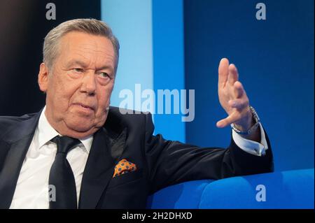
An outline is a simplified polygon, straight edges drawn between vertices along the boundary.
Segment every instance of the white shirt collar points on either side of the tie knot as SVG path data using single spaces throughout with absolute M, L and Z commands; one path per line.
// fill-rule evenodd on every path
M 52 128 L 50 123 L 48 122 L 45 115 L 46 106 L 43 108 L 41 112 L 41 116 L 38 120 L 38 143 L 39 148 L 48 143 L 55 136 L 60 136 L 60 134 Z M 90 152 L 93 136 L 87 136 L 85 138 L 79 138 L 80 142 L 84 145 L 84 148 L 87 152 Z

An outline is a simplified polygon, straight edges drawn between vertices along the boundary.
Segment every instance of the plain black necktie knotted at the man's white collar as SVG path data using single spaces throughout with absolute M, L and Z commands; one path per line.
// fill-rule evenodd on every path
M 80 141 L 69 136 L 56 136 L 51 141 L 57 144 L 57 154 L 49 174 L 49 185 L 55 186 L 55 201 L 50 198 L 49 208 L 76 209 L 76 181 L 66 154 Z

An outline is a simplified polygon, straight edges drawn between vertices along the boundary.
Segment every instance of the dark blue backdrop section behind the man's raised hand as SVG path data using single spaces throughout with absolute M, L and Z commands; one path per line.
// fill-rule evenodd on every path
M 237 65 L 251 105 L 272 143 L 276 171 L 314 168 L 314 1 L 184 1 L 186 88 L 195 89 L 195 121 L 186 141 L 228 146 L 217 96 L 218 62 Z

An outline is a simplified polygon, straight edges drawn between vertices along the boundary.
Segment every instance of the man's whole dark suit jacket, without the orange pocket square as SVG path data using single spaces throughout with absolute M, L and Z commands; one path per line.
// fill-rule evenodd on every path
M 10 207 L 40 114 L 0 117 L 0 208 Z M 273 171 L 268 138 L 265 156 L 257 157 L 233 140 L 228 149 L 198 148 L 153 136 L 153 130 L 150 114 L 122 115 L 118 108 L 109 109 L 104 127 L 94 134 L 79 208 L 146 208 L 149 194 L 179 182 Z M 121 159 L 136 164 L 137 171 L 112 178 Z

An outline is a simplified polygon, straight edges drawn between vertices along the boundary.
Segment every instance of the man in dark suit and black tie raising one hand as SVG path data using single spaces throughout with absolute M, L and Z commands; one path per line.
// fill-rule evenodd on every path
M 237 69 L 222 59 L 218 95 L 228 149 L 153 136 L 150 114 L 109 107 L 119 44 L 102 21 L 70 20 L 45 37 L 38 113 L 0 117 L 0 208 L 145 208 L 186 180 L 272 171 L 272 152 Z M 211 133 L 209 133 L 211 134 Z

